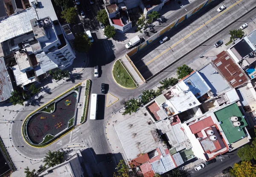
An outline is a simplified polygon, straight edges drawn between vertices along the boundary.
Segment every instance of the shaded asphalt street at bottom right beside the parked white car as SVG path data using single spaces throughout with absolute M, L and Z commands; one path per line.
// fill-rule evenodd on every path
M 216 174 L 222 174 L 222 170 L 229 166 L 234 165 L 234 163 L 239 162 L 241 159 L 237 156 L 237 150 L 233 152 L 227 152 L 225 155 L 216 157 L 216 162 L 206 165 L 204 169 L 195 171 L 195 169 L 189 169 L 192 177 L 213 177 Z

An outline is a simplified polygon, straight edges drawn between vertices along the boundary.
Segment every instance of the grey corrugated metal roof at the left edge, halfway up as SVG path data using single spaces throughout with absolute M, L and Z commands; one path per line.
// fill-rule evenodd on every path
M 5 101 L 10 98 L 12 91 L 12 83 L 2 57 L 0 58 L 0 101 Z

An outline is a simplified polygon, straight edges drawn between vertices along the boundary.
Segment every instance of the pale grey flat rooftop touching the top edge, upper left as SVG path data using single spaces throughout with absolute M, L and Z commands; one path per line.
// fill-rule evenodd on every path
M 29 0 L 30 4 L 33 0 Z M 38 19 L 43 19 L 45 17 L 50 17 L 52 21 L 58 20 L 55 10 L 52 6 L 51 0 L 40 0 L 38 3 L 39 8 L 35 8 L 38 14 Z

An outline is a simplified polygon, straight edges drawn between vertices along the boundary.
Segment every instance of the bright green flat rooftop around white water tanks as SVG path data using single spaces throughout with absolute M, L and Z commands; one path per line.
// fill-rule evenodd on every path
M 220 126 L 223 129 L 229 143 L 234 143 L 242 139 L 242 136 L 246 137 L 243 128 L 247 126 L 247 123 L 236 103 L 216 111 L 215 115 L 218 121 L 222 122 Z M 236 116 L 238 118 L 238 121 L 241 123 L 240 126 L 233 127 L 232 121 L 229 119 L 232 116 Z M 241 129 L 241 131 L 238 131 L 239 129 Z

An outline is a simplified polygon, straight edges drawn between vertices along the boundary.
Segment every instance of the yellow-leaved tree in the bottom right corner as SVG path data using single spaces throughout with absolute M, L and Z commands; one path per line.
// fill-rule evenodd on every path
M 252 165 L 250 161 L 235 163 L 233 169 L 230 169 L 230 174 L 235 177 L 256 177 L 256 165 Z

